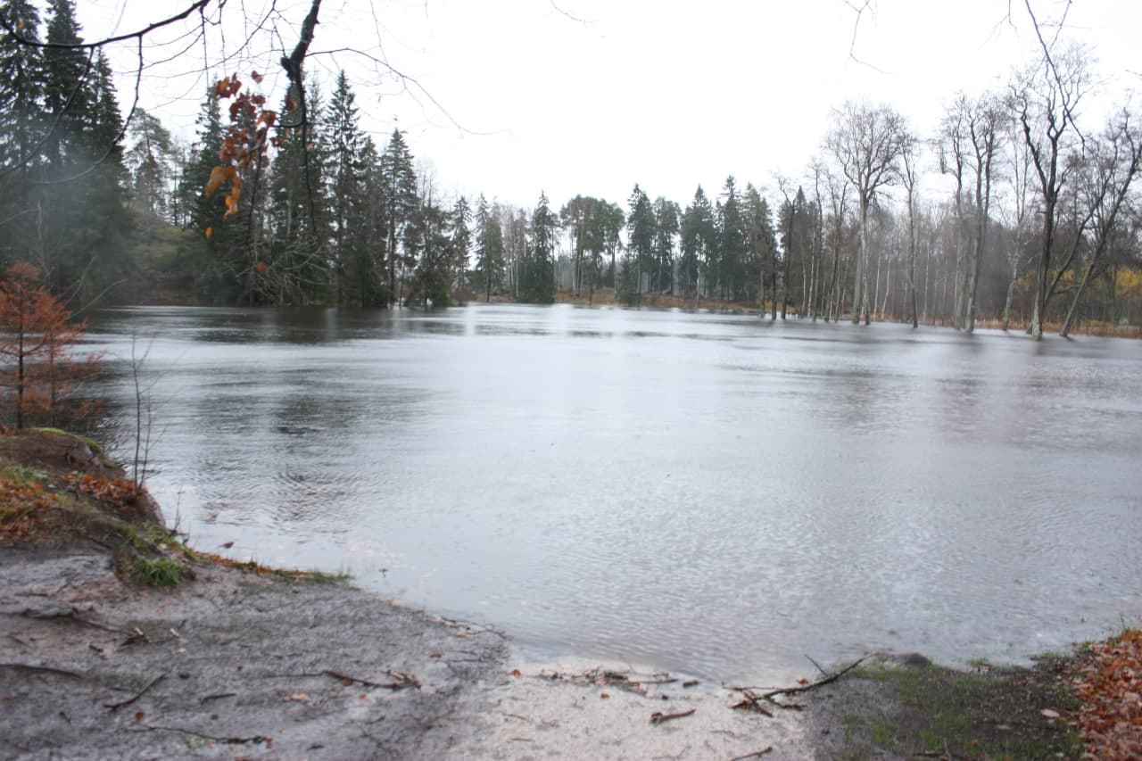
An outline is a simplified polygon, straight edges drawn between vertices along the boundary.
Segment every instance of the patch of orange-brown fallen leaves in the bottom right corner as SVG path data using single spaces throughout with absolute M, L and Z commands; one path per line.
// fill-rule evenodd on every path
M 1071 673 L 1086 756 L 1142 758 L 1142 630 L 1095 642 Z

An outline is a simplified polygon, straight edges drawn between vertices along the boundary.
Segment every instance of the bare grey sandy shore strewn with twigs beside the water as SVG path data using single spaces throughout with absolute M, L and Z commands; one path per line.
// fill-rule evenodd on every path
M 195 571 L 155 591 L 106 554 L 0 550 L 0 758 L 814 755 L 798 712 L 716 686 L 522 663 L 498 632 L 349 586 Z

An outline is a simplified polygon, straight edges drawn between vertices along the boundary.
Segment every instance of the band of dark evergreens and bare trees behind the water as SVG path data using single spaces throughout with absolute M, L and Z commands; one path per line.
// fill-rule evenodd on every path
M 41 39 L 34 5 L 0 13 Z M 685 206 L 637 184 L 621 202 L 540 193 L 530 209 L 449 197 L 403 133 L 378 145 L 361 129 L 341 73 L 328 97 L 305 88 L 304 125 L 275 123 L 227 215 L 228 185 L 203 190 L 227 134 L 256 125 L 211 88 L 191 145 L 142 109 L 124 128 L 102 53 L 67 47 L 82 39 L 70 0 L 48 14 L 53 46 L 0 40 L 0 263 L 32 262 L 82 305 L 548 303 L 605 288 L 773 319 L 1142 323 L 1142 141 L 1125 111 L 1076 122 L 1077 54 L 955 97 L 926 135 L 888 106 L 846 104 L 803 176 L 730 176 Z M 925 183 L 936 171 L 954 190 Z

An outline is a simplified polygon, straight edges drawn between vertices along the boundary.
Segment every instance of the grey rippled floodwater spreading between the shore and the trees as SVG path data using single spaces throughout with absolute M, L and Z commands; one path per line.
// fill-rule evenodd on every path
M 1142 616 L 1142 343 L 130 309 L 91 323 L 126 427 L 132 336 L 148 483 L 192 544 L 347 570 L 538 657 L 767 683 L 869 648 L 1018 662 Z

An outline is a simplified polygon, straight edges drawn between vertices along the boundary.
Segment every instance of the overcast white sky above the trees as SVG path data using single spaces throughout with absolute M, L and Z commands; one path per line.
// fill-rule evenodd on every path
M 88 39 L 186 1 L 78 0 Z M 268 6 L 247 0 L 246 16 L 257 15 L 258 2 Z M 295 25 L 307 6 L 278 2 Z M 1034 7 L 1049 19 L 1064 3 Z M 395 119 L 445 195 L 483 192 L 532 207 L 544 190 L 556 207 L 578 193 L 625 206 L 637 182 L 652 198 L 685 206 L 699 183 L 715 195 L 729 174 L 771 190 L 777 171 L 802 176 L 822 152 L 831 110 L 846 99 L 886 102 L 917 133 L 933 131 L 956 90 L 1002 88 L 1036 54 L 1022 0 L 1013 0 L 1014 25 L 1007 8 L 1006 0 L 874 0 L 856 30 L 859 63 L 850 56 L 856 16 L 845 0 L 324 0 L 307 66 L 327 82 L 344 67 L 362 126 L 383 143 Z M 242 8 L 227 5 L 223 19 L 234 50 L 248 32 Z M 1075 0 L 1069 10 L 1064 34 L 1099 59 L 1104 98 L 1089 102 L 1093 127 L 1108 103 L 1121 105 L 1142 83 L 1140 30 L 1139 0 Z M 279 22 L 276 32 L 278 51 L 258 39 L 231 70 L 276 74 L 297 29 Z M 384 56 L 439 106 L 423 93 L 402 94 L 362 55 L 322 53 L 339 48 Z M 201 66 L 203 50 L 195 50 L 193 63 L 154 70 L 143 91 L 143 105 L 186 137 L 204 82 L 169 77 L 179 65 Z M 116 54 L 119 67 L 132 55 Z M 280 78 L 266 87 L 280 99 Z

